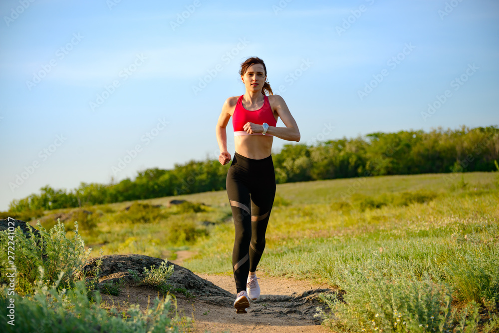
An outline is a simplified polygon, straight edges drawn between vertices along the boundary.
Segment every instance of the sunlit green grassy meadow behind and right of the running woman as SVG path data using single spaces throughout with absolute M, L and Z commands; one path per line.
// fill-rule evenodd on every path
M 342 301 L 323 296 L 334 316 L 321 316 L 334 331 L 495 332 L 497 175 L 279 184 L 258 269 L 344 290 Z M 172 199 L 191 204 L 168 207 Z M 99 232 L 83 233 L 92 252 L 164 259 L 177 249 L 192 250 L 198 255 L 184 261 L 186 268 L 232 273 L 234 227 L 225 191 L 140 203 L 136 214 L 153 219 L 124 219 L 132 203 L 92 208 L 100 214 Z

